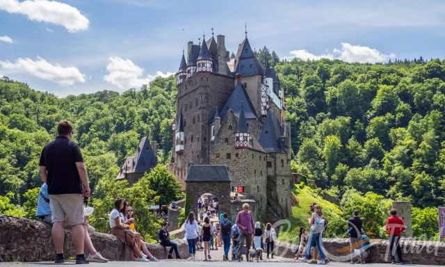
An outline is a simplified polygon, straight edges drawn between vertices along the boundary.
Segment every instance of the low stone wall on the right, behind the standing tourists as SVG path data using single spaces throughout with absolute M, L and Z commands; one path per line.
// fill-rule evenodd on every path
M 445 243 L 432 241 L 414 241 L 405 239 L 401 241 L 403 260 L 410 264 L 434 264 L 445 265 Z M 325 252 L 334 261 L 349 261 L 346 255 L 349 252 L 348 238 L 323 238 Z M 389 241 L 371 240 L 371 247 L 367 252 L 369 255 L 366 262 L 387 263 L 389 262 L 387 251 Z M 293 258 L 296 246 L 289 243 L 275 243 L 275 254 L 280 257 Z M 332 257 L 334 256 L 334 257 Z

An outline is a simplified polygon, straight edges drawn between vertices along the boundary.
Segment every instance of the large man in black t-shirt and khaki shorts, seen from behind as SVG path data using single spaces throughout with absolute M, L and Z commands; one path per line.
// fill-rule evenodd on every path
M 83 254 L 83 197 L 90 196 L 88 175 L 79 147 L 70 141 L 72 125 L 66 120 L 57 125 L 58 136 L 40 154 L 40 176 L 48 185 L 51 208 L 51 236 L 56 248 L 56 264 L 63 257 L 64 227 L 72 227 L 76 264 L 88 264 Z

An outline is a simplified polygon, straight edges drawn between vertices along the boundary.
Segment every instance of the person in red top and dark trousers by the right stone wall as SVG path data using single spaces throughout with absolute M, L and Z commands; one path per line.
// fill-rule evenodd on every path
M 402 250 L 399 242 L 401 241 L 401 234 L 405 231 L 405 223 L 397 216 L 397 211 L 391 209 L 389 211 L 389 218 L 387 219 L 386 229 L 389 234 L 389 254 L 391 255 L 391 264 L 396 264 L 396 257 L 394 257 L 394 247 L 397 251 L 398 260 L 403 263 Z

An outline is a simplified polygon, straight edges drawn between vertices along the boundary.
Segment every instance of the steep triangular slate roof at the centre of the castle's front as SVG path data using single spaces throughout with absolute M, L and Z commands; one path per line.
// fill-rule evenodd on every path
M 250 98 L 248 93 L 245 91 L 241 83 L 238 83 L 230 95 L 229 99 L 223 106 L 223 109 L 220 111 L 221 119 L 224 120 L 227 112 L 232 109 L 235 115 L 239 117 L 241 111 L 241 102 L 244 103 L 244 114 L 246 119 L 257 119 L 257 113 L 253 108 L 252 102 L 250 102 Z

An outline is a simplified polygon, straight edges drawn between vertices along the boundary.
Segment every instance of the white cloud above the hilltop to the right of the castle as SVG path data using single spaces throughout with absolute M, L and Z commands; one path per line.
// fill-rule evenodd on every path
M 300 58 L 302 60 L 318 60 L 321 58 L 339 59 L 345 62 L 357 62 L 357 63 L 382 63 L 387 62 L 389 59 L 396 58 L 396 55 L 382 54 L 382 52 L 371 47 L 364 47 L 362 45 L 348 44 L 347 42 L 341 43 L 341 49 L 333 49 L 332 54 L 315 55 L 307 51 L 306 49 L 292 50 L 289 52 L 292 56 L 287 58 Z

